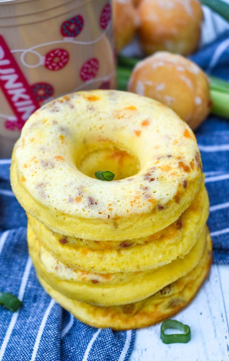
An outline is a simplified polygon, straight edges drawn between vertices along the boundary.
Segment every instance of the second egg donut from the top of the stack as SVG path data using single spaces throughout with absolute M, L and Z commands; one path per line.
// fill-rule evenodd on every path
M 39 243 L 53 257 L 73 269 L 106 274 L 155 269 L 178 257 L 184 257 L 194 246 L 198 234 L 203 229 L 208 209 L 208 195 L 203 182 L 189 208 L 164 230 L 133 241 L 110 241 L 114 248 L 106 248 L 106 242 L 102 242 L 101 248 L 96 249 L 90 248 L 87 240 L 57 234 L 29 214 L 27 216 Z M 96 245 L 97 242 L 99 241 L 96 241 Z M 118 243 L 119 248 L 115 243 Z M 94 242 L 91 241 L 89 244 L 93 245 Z

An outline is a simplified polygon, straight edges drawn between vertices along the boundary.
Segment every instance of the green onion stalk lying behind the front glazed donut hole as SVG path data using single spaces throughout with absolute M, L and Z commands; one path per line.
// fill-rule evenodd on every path
M 126 90 L 131 72 L 139 60 L 141 59 L 118 56 L 118 90 Z M 208 74 L 207 77 L 210 83 L 210 93 L 213 102 L 211 113 L 224 118 L 229 118 L 229 82 Z

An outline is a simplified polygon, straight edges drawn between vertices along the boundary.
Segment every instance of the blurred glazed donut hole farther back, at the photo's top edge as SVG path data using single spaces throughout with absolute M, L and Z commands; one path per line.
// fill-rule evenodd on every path
M 158 50 L 188 55 L 195 51 L 203 12 L 197 0 L 143 0 L 138 7 L 141 45 L 146 54 Z

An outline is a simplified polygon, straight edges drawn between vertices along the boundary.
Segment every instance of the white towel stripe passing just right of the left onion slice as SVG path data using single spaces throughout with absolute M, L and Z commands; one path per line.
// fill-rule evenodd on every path
M 29 278 L 29 273 L 30 273 L 31 265 L 32 265 L 31 259 L 30 259 L 30 257 L 28 257 L 28 260 L 27 260 L 26 266 L 25 266 L 25 271 L 24 271 L 24 273 L 23 273 L 22 280 L 21 280 L 20 290 L 19 290 L 19 293 L 18 293 L 18 298 L 19 298 L 21 301 L 22 301 L 23 296 L 24 296 L 24 293 L 25 293 L 25 288 L 26 288 L 27 280 L 28 280 L 28 278 Z M 5 353 L 5 349 L 6 349 L 6 347 L 7 347 L 7 344 L 8 344 L 9 338 L 10 338 L 10 335 L 12 334 L 14 325 L 15 325 L 15 323 L 16 323 L 16 321 L 17 321 L 17 317 L 18 317 L 19 311 L 20 311 L 20 309 L 19 309 L 17 312 L 14 312 L 14 313 L 13 313 L 13 316 L 11 317 L 10 324 L 9 324 L 9 327 L 8 327 L 8 330 L 7 330 L 7 333 L 5 334 L 5 338 L 4 338 L 3 343 L 2 343 L 2 345 L 1 345 L 1 348 L 0 348 L 0 361 L 3 359 L 4 353 Z

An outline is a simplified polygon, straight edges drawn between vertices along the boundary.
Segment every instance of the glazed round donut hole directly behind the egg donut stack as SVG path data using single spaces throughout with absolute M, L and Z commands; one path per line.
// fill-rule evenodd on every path
M 212 106 L 204 72 L 194 62 L 169 52 L 156 52 L 138 62 L 128 91 L 169 106 L 191 129 L 203 122 Z

